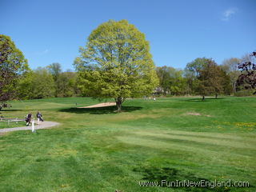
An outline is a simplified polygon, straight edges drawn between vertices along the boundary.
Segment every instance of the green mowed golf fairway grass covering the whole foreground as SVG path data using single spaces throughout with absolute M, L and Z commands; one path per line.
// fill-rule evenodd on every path
M 40 110 L 61 125 L 0 135 L 0 191 L 256 191 L 256 98 L 130 99 L 121 114 L 115 106 L 76 108 L 97 103 L 49 98 L 2 111 L 23 118 Z M 138 185 L 161 179 L 231 179 L 250 187 Z

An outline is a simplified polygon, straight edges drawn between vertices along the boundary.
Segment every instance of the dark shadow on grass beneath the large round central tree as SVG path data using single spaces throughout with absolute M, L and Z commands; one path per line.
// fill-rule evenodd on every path
M 104 106 L 95 108 L 68 108 L 59 110 L 60 112 L 76 113 L 76 114 L 116 114 L 117 106 Z M 131 112 L 134 110 L 142 110 L 141 106 L 122 106 L 123 112 Z

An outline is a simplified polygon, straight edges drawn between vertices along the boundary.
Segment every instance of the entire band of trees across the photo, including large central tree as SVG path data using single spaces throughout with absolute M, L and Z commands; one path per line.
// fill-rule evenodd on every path
M 2 106 L 10 99 L 90 96 L 114 98 L 121 111 L 126 98 L 201 95 L 204 100 L 208 95 L 252 94 L 256 88 L 255 52 L 221 65 L 212 58 L 195 58 L 184 70 L 156 67 L 145 34 L 126 20 L 99 25 L 79 52 L 76 72 L 63 72 L 59 63 L 30 70 L 22 51 L 0 34 Z

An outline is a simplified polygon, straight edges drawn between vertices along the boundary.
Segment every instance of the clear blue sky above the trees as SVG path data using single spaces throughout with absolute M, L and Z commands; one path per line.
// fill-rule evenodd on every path
M 127 19 L 146 34 L 156 66 L 194 58 L 218 64 L 256 50 L 256 0 L 0 0 L 0 34 L 32 69 L 52 62 L 74 70 L 78 47 L 102 22 Z

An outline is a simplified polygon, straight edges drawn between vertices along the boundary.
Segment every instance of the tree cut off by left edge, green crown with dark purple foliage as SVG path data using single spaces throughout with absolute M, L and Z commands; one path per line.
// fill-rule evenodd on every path
M 14 98 L 18 78 L 28 70 L 27 61 L 10 40 L 10 37 L 0 34 L 0 110 L 7 106 L 6 101 Z

